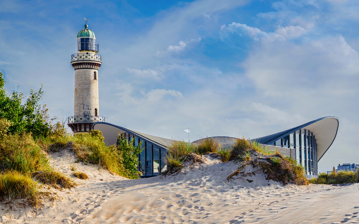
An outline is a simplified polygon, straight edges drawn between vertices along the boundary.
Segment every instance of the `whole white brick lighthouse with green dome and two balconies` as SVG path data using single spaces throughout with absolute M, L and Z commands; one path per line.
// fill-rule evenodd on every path
M 98 79 L 101 55 L 98 54 L 98 43 L 95 34 L 85 29 L 77 35 L 77 53 L 71 55 L 71 65 L 75 69 L 74 116 L 68 118 L 69 127 L 73 132 L 88 132 L 92 124 L 105 121 L 99 116 Z

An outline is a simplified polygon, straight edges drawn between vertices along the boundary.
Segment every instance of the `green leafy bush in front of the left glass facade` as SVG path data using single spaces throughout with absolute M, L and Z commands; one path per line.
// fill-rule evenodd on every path
M 137 171 L 137 154 L 139 154 L 143 149 L 141 148 L 142 142 L 140 142 L 137 147 L 134 146 L 134 143 L 135 138 L 132 138 L 131 141 L 128 141 L 126 138 L 121 138 L 120 136 L 118 139 L 117 149 L 118 151 L 122 152 L 122 163 L 125 166 L 125 169 L 130 172 L 130 176 L 132 178 L 138 178 L 141 172 Z

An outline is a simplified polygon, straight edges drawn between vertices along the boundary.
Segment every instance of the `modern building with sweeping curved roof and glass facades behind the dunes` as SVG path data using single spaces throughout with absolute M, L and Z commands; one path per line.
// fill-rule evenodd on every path
M 339 119 L 337 117 L 326 116 L 283 132 L 252 140 L 264 145 L 270 151 L 278 150 L 284 156 L 296 159 L 298 163 L 303 165 L 307 175 L 317 175 L 318 161 L 334 142 L 338 127 Z M 143 142 L 141 147 L 144 150 L 139 154 L 139 170 L 144 177 L 158 175 L 167 168 L 164 161 L 165 153 L 173 140 L 144 134 L 106 122 L 94 123 L 93 128 L 102 131 L 105 138 L 104 142 L 107 145 L 116 144 L 118 134 L 128 140 L 136 138 L 136 146 Z M 222 148 L 232 147 L 236 140 L 233 137 L 213 138 L 218 140 Z M 194 143 L 198 141 L 196 140 Z

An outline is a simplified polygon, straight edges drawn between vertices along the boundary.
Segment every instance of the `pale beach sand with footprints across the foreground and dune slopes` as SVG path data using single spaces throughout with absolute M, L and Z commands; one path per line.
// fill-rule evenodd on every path
M 59 200 L 38 211 L 3 203 L 0 223 L 359 223 L 359 184 L 283 186 L 252 167 L 227 181 L 238 164 L 202 158 L 179 173 L 138 180 L 75 163 L 88 180 L 74 178 L 79 185 L 70 190 L 46 188 Z M 68 175 L 75 159 L 67 150 L 51 154 Z

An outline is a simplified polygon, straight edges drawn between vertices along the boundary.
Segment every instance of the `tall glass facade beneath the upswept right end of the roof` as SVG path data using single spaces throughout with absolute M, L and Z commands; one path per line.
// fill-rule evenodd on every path
M 300 129 L 273 142 L 275 146 L 295 149 L 295 159 L 308 175 L 318 174 L 317 141 L 313 132 Z

